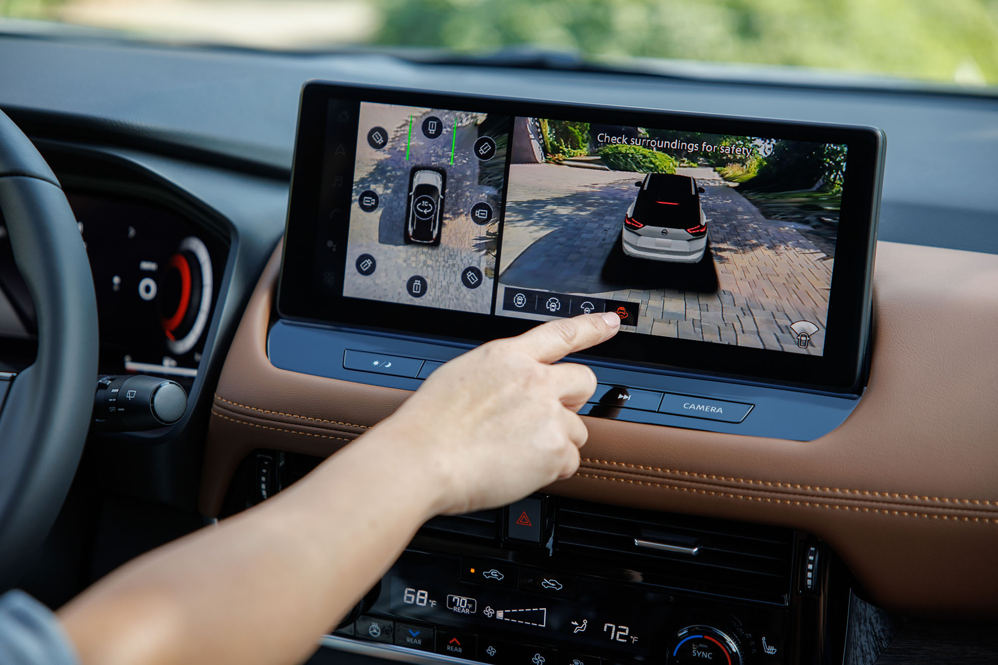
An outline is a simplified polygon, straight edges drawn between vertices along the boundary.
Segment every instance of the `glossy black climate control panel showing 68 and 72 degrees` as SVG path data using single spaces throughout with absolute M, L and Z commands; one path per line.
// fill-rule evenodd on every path
M 565 563 L 409 549 L 336 636 L 513 665 L 784 662 L 783 608 L 677 593 L 640 575 L 628 582 Z

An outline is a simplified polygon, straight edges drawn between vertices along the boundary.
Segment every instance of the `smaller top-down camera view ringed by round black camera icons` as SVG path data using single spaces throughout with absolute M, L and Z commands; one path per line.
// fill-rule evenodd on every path
M 510 119 L 361 103 L 343 296 L 491 312 Z

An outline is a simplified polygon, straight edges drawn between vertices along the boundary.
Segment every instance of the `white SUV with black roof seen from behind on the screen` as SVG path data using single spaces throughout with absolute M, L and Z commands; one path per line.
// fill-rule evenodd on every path
M 696 264 L 707 251 L 703 187 L 689 176 L 650 173 L 635 183 L 637 198 L 624 217 L 624 254 L 637 259 Z

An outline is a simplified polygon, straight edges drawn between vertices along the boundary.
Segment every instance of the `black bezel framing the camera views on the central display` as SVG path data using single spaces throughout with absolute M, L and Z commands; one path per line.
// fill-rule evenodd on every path
M 846 183 L 839 215 L 832 289 L 829 295 L 824 353 L 804 355 L 711 341 L 621 332 L 585 351 L 584 357 L 669 370 L 703 372 L 761 382 L 776 382 L 835 392 L 856 392 L 865 382 L 865 355 L 870 327 L 870 278 L 876 238 L 883 134 L 869 127 L 757 120 L 729 116 L 636 110 L 610 106 L 553 104 L 472 95 L 427 93 L 399 88 L 342 86 L 308 82 L 302 87 L 291 188 L 284 232 L 277 313 L 305 322 L 333 324 L 390 333 L 406 333 L 483 342 L 523 333 L 538 322 L 497 315 L 430 309 L 330 295 L 315 280 L 315 238 L 319 219 L 329 103 L 343 101 L 398 104 L 422 108 L 655 127 L 713 134 L 847 145 Z M 353 114 L 356 118 L 356 113 Z M 352 155 L 356 124 L 348 144 Z M 346 135 L 340 135 L 346 136 Z M 507 158 L 507 177 L 508 177 Z M 352 160 L 348 170 L 352 182 Z M 508 189 L 508 182 L 507 182 Z M 350 189 L 350 188 L 347 188 Z M 505 214 L 499 211 L 500 229 Z M 345 270 L 348 216 L 334 229 L 336 244 L 331 271 Z M 500 252 L 501 252 L 500 235 Z M 497 266 L 498 260 L 497 257 Z M 496 276 L 498 280 L 498 276 Z M 404 327 L 399 327 L 404 322 Z M 670 354 L 671 361 L 650 357 Z

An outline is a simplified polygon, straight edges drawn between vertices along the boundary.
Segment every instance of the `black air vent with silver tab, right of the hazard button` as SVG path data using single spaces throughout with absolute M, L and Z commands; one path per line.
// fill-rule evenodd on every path
M 793 531 L 561 499 L 555 548 L 673 588 L 785 603 Z

